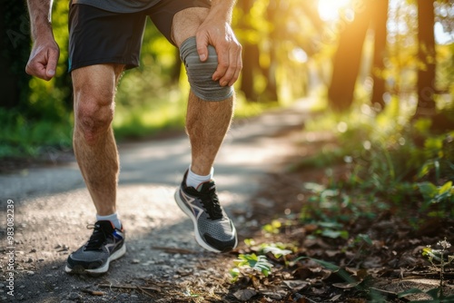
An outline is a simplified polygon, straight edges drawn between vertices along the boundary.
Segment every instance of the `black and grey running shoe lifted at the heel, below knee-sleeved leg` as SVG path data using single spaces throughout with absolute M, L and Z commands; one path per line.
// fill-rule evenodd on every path
M 175 200 L 184 213 L 192 219 L 195 239 L 203 249 L 227 252 L 236 247 L 238 238 L 232 220 L 219 204 L 214 181 L 202 183 L 198 189 L 182 185 L 175 192 Z

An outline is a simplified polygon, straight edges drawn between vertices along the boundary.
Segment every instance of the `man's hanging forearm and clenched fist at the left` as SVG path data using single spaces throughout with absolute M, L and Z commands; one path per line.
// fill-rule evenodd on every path
M 33 48 L 25 72 L 44 80 L 54 77 L 60 49 L 51 25 L 52 0 L 28 0 Z

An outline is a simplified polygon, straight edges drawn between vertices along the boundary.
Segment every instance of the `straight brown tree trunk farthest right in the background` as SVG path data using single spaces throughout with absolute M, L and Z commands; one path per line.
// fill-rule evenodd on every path
M 418 0 L 418 58 L 423 68 L 418 71 L 418 107 L 416 116 L 435 114 L 435 0 Z

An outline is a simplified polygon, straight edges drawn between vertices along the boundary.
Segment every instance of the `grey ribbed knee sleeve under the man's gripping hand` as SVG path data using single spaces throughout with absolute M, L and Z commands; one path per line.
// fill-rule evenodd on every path
M 180 46 L 180 57 L 186 67 L 192 93 L 205 101 L 222 101 L 232 96 L 231 86 L 221 86 L 212 81 L 212 74 L 218 67 L 218 54 L 212 45 L 208 45 L 208 59 L 200 61 L 195 37 L 186 39 Z

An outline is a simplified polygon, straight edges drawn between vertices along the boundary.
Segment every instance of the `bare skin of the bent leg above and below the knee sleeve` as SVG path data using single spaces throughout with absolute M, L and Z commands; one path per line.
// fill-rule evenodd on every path
M 208 14 L 206 8 L 188 8 L 173 17 L 173 40 L 177 46 L 197 32 Z M 186 132 L 192 147 L 192 172 L 208 175 L 232 122 L 233 97 L 207 102 L 190 92 Z

